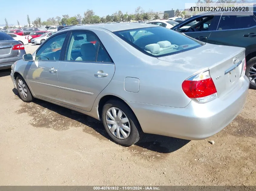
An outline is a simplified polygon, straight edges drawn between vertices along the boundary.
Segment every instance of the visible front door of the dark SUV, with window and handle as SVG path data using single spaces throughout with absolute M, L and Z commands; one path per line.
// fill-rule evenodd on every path
M 208 42 L 211 31 L 217 28 L 218 21 L 218 15 L 204 15 L 181 25 L 178 31 L 197 40 Z

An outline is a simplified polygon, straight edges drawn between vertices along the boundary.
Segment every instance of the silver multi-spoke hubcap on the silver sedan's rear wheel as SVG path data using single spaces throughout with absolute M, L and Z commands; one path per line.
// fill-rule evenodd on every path
M 111 107 L 106 113 L 106 123 L 109 131 L 119 139 L 130 135 L 131 126 L 128 117 L 117 107 Z

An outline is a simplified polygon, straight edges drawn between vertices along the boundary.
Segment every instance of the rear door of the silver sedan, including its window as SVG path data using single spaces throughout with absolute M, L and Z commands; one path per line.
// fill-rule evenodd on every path
M 98 94 L 109 84 L 115 65 L 91 32 L 73 32 L 58 80 L 65 104 L 90 111 Z

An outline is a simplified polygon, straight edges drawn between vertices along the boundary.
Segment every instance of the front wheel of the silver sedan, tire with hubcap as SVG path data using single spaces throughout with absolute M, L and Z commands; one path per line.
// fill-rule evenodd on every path
M 19 96 L 22 99 L 22 101 L 32 102 L 33 96 L 28 88 L 28 85 L 26 84 L 25 80 L 21 77 L 21 75 L 17 76 L 16 85 L 17 85 L 17 90 L 18 90 Z M 20 90 L 20 88 L 22 88 L 22 90 Z M 25 91 L 27 91 L 27 95 L 23 94 L 23 92 L 25 92 Z

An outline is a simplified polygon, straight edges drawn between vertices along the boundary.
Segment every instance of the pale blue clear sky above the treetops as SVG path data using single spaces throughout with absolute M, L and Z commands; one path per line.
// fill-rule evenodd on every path
M 17 20 L 22 26 L 27 24 L 27 14 L 31 23 L 37 17 L 46 21 L 50 17 L 68 14 L 70 17 L 76 14 L 84 15 L 87 9 L 94 10 L 95 14 L 102 17 L 111 15 L 115 11 L 121 10 L 129 14 L 135 12 L 135 8 L 141 6 L 145 11 L 169 11 L 173 9 L 184 9 L 185 3 L 194 3 L 196 0 L 12 0 L 11 4 L 7 0 L 0 0 L 0 24 L 17 24 Z M 16 10 L 16 11 L 15 11 Z

